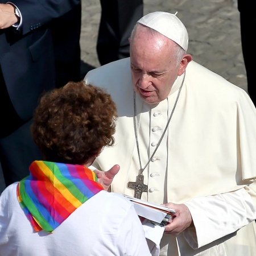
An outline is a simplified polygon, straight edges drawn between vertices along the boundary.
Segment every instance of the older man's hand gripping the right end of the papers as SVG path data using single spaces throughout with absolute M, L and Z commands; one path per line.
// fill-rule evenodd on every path
M 184 229 L 188 228 L 192 224 L 192 217 L 189 212 L 189 209 L 184 204 L 173 204 L 168 203 L 164 204 L 167 207 L 174 209 L 176 212 L 176 217 L 172 220 L 171 223 L 166 225 L 164 234 L 171 234 L 177 236 Z

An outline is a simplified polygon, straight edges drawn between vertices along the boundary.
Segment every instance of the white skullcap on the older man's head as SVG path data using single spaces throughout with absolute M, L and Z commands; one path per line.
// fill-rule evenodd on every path
M 158 31 L 187 51 L 188 32 L 176 14 L 155 11 L 155 13 L 149 13 L 143 16 L 138 20 L 138 23 Z

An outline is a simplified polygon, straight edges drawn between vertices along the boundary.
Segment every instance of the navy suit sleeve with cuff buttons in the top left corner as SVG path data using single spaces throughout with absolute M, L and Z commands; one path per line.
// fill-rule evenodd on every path
M 22 35 L 36 30 L 68 13 L 81 0 L 13 0 L 22 15 Z

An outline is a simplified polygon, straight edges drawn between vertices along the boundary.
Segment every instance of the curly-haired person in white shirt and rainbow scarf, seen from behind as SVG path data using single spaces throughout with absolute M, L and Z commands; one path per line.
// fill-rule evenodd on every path
M 113 146 L 116 119 L 96 86 L 69 82 L 44 94 L 31 131 L 45 159 L 0 197 L 0 255 L 151 255 L 133 204 L 105 191 L 119 167 L 99 179 L 88 168 Z

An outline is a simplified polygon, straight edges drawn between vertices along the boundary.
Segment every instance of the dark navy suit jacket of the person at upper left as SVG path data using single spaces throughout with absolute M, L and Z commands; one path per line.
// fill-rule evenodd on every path
M 13 0 L 22 14 L 22 30 L 0 30 L 0 67 L 16 113 L 30 119 L 39 95 L 55 86 L 55 59 L 51 22 L 64 15 L 80 0 Z M 6 3 L 6 0 L 0 0 Z M 0 89 L 0 101 L 5 95 Z M 1 109 L 1 112 L 5 111 Z

